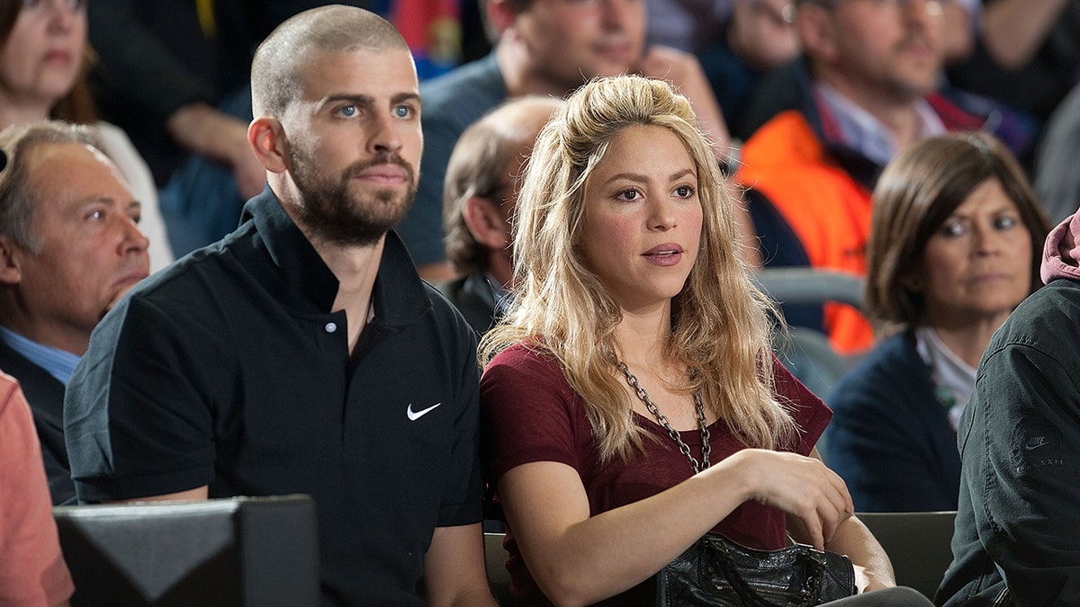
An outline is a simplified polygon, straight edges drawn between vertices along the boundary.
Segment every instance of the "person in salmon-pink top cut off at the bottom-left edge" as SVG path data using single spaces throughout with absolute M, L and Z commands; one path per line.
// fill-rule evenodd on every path
M 67 605 L 75 592 L 60 554 L 30 405 L 0 372 L 0 605 Z

